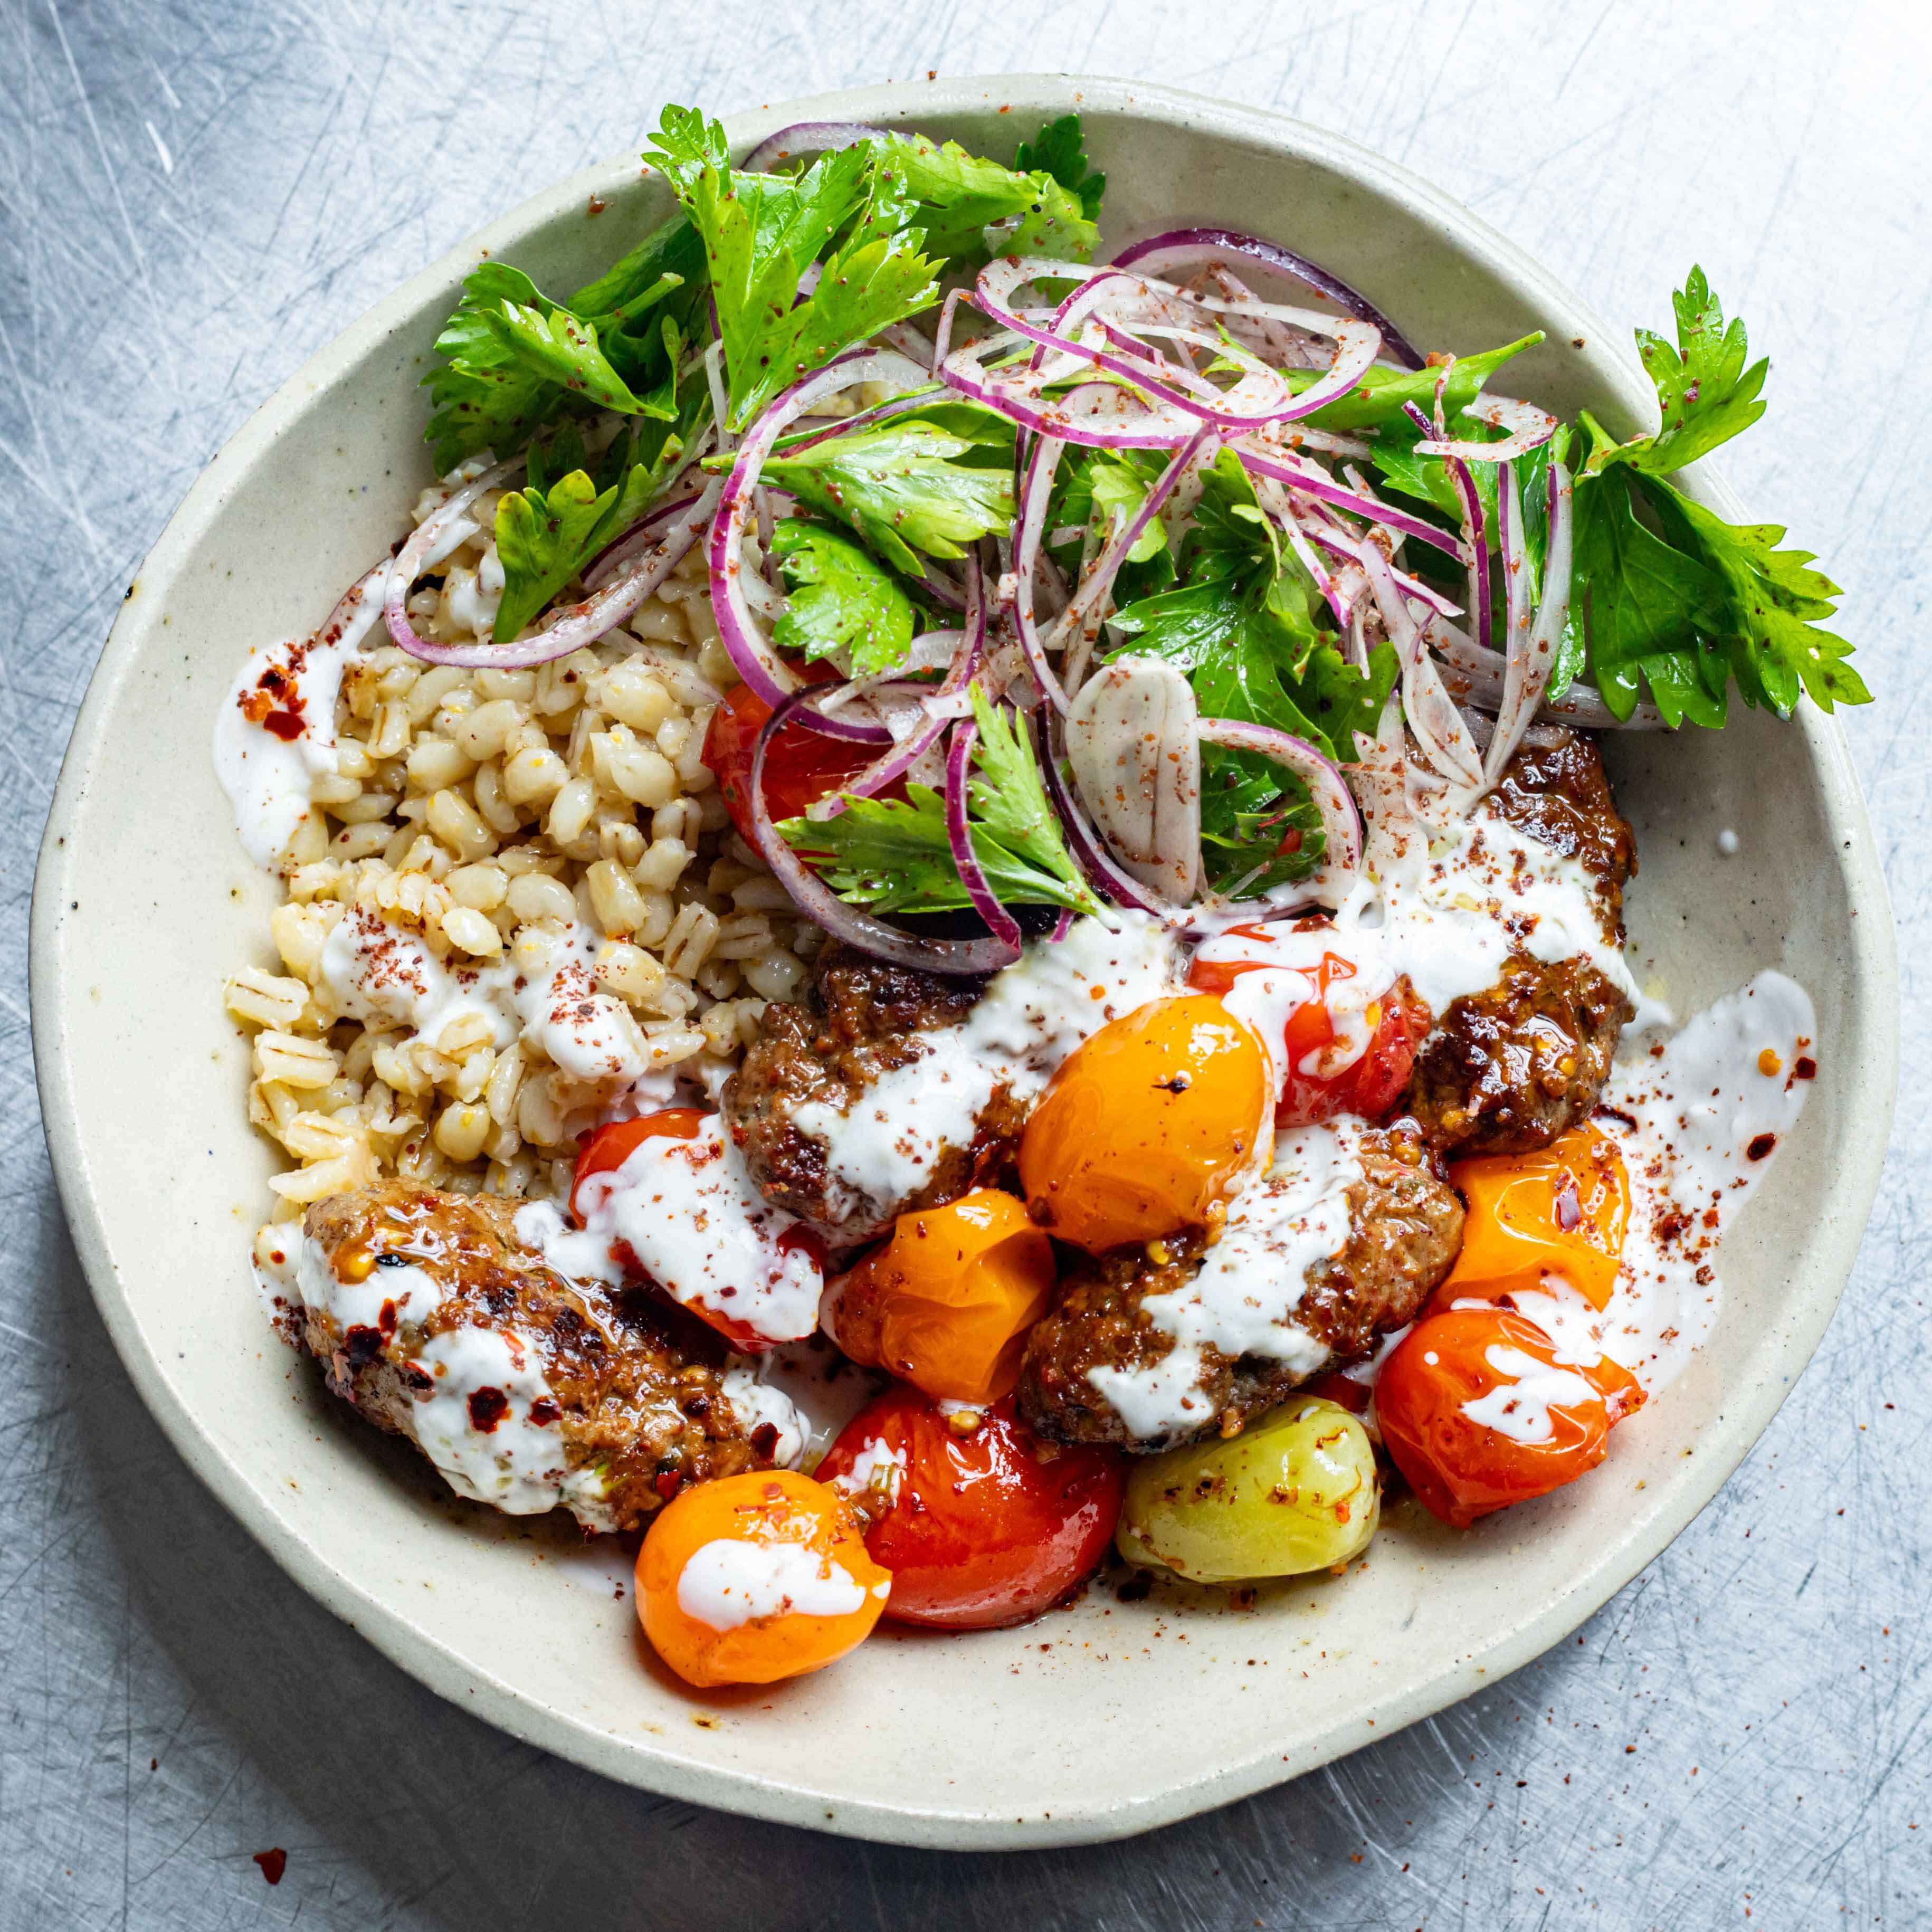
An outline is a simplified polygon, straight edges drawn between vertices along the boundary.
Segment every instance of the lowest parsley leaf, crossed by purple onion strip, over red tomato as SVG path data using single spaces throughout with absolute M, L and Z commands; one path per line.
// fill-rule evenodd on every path
M 968 782 L 968 831 L 987 883 L 1007 904 L 1101 904 L 1072 862 L 1026 730 L 995 711 L 974 686 L 976 775 Z M 779 833 L 823 871 L 848 904 L 877 912 L 956 912 L 972 904 L 952 864 L 947 810 L 925 784 L 906 800 L 854 798 L 837 817 L 781 819 Z

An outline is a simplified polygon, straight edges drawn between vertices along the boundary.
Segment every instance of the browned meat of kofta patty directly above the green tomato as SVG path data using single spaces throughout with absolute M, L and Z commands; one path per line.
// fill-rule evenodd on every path
M 1236 1434 L 1316 1374 L 1370 1354 L 1376 1337 L 1412 1321 L 1449 1273 L 1463 1244 L 1463 1204 L 1430 1171 L 1414 1132 L 1372 1128 L 1358 1151 L 1362 1179 L 1349 1182 L 1349 1236 L 1300 1283 L 1254 1281 L 1279 1298 L 1281 1318 L 1306 1331 L 1300 1364 L 1202 1349 L 1198 1426 L 1136 1435 L 1090 1370 L 1150 1370 L 1175 1337 L 1146 1310 L 1151 1296 L 1184 1294 L 1206 1258 L 1200 1233 L 1082 1260 L 1061 1285 L 1020 1366 L 1020 1412 L 1057 1441 L 1171 1449 L 1202 1435 Z M 1235 1213 L 1240 1213 L 1236 1202 Z M 1323 1354 L 1325 1350 L 1325 1354 Z M 1312 1360 L 1312 1366 L 1310 1366 Z

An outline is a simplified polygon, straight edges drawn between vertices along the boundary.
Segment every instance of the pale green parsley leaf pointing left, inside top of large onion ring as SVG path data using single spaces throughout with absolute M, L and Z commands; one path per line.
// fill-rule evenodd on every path
M 1012 425 L 981 412 L 960 433 L 918 415 L 827 437 L 773 456 L 765 481 L 850 524 L 895 570 L 922 576 L 918 553 L 964 556 L 1012 527 Z

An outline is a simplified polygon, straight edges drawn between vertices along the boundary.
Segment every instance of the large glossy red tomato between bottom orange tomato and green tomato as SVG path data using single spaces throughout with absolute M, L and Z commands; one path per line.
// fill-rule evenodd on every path
M 1012 1397 L 958 1434 L 937 1403 L 889 1389 L 867 1403 L 817 1466 L 819 1482 L 866 1503 L 852 1468 L 871 1451 L 866 1536 L 893 1573 L 887 1615 L 900 1623 L 993 1631 L 1051 1609 L 1101 1559 L 1121 1517 L 1124 1470 L 1111 1449 L 1039 1443 Z M 893 1464 L 900 1464 L 893 1476 Z M 840 1482 L 840 1478 L 844 1478 Z

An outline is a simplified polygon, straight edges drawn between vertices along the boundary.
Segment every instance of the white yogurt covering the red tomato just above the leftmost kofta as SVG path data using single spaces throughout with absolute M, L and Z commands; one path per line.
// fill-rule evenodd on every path
M 518 1211 L 518 1238 L 560 1275 L 620 1285 L 626 1250 L 672 1300 L 723 1316 L 755 1343 L 798 1341 L 819 1321 L 825 1271 L 800 1221 L 757 1192 L 724 1122 L 692 1140 L 643 1140 L 622 1167 L 585 1175 L 582 1231 L 554 1209 Z

